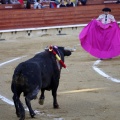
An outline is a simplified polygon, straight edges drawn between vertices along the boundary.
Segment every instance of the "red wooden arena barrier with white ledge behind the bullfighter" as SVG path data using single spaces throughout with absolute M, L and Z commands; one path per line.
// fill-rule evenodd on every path
M 115 16 L 118 24 L 120 24 L 119 4 L 88 4 L 74 8 L 55 8 L 49 10 L 9 8 L 11 10 L 1 9 L 0 11 L 0 33 L 15 32 L 17 34 L 21 31 L 28 33 L 31 31 L 49 31 L 50 29 L 61 33 L 63 29 L 67 28 L 78 30 L 93 18 L 97 18 L 102 13 L 101 10 L 104 7 L 112 9 L 112 14 Z

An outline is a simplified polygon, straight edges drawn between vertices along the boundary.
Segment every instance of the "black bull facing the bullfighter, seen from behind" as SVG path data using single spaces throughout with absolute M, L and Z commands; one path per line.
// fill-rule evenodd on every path
M 53 50 L 64 61 L 64 56 L 70 56 L 71 51 L 64 47 L 53 47 Z M 41 96 L 39 103 L 44 101 L 44 91 L 52 90 L 53 107 L 59 108 L 57 103 L 57 88 L 59 85 L 61 64 L 56 60 L 55 55 L 46 49 L 35 55 L 33 58 L 20 63 L 13 74 L 11 89 L 13 92 L 13 101 L 16 108 L 16 114 L 20 120 L 25 119 L 25 110 L 20 101 L 20 94 L 23 92 L 25 102 L 29 109 L 31 117 L 35 116 L 30 101 L 37 97 L 39 90 Z

